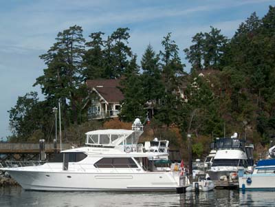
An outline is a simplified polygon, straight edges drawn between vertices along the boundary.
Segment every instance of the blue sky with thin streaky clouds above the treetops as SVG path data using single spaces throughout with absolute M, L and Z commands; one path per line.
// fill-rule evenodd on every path
M 45 65 L 39 58 L 55 43 L 56 34 L 72 25 L 91 32 L 111 34 L 129 28 L 129 45 L 138 60 L 148 44 L 155 52 L 168 32 L 179 46 L 180 56 L 192 45 L 197 32 L 210 32 L 210 25 L 231 38 L 252 12 L 262 18 L 270 0 L 0 0 L 0 138 L 11 135 L 9 113 L 17 98 L 30 91 Z M 186 71 L 190 65 L 187 64 Z

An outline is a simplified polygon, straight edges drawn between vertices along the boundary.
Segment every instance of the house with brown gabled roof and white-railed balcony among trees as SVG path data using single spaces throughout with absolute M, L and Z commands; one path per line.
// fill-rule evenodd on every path
M 120 113 L 124 100 L 120 91 L 120 79 L 86 80 L 89 89 L 89 120 L 115 118 Z

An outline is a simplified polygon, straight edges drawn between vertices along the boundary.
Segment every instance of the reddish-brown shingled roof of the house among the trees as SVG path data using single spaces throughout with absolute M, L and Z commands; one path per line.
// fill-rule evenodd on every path
M 89 89 L 96 89 L 107 102 L 120 102 L 124 100 L 120 86 L 120 79 L 86 80 Z

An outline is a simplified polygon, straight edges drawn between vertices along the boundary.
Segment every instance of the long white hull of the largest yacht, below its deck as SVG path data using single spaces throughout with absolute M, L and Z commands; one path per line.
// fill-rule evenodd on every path
M 172 172 L 76 173 L 9 170 L 25 190 L 43 191 L 167 191 L 178 183 Z

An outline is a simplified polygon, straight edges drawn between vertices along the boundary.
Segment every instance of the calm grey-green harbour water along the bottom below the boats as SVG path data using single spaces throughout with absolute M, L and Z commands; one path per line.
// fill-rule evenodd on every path
M 208 193 L 47 193 L 0 188 L 0 206 L 274 206 L 275 192 L 214 190 Z

